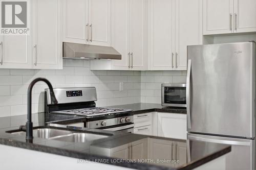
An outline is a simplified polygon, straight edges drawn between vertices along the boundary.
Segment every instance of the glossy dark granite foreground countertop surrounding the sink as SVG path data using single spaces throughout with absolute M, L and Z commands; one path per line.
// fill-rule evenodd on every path
M 0 118 L 1 119 L 1 118 Z M 37 128 L 49 128 L 49 127 L 34 127 Z M 53 129 L 59 130 L 67 130 L 67 128 L 56 128 L 51 127 Z M 36 136 L 36 132 L 34 132 L 33 142 L 26 142 L 25 140 L 25 132 L 16 132 L 14 134 L 6 133 L 5 129 L 0 131 L 0 144 L 10 145 L 13 147 L 24 148 L 29 150 L 47 152 L 51 154 L 57 154 L 62 156 L 73 157 L 77 159 L 84 159 L 92 162 L 96 162 L 99 159 L 108 160 L 106 162 L 111 162 L 113 165 L 129 167 L 134 169 L 155 169 L 155 170 L 164 170 L 164 169 L 191 169 L 198 167 L 204 163 L 207 163 L 213 159 L 216 159 L 228 152 L 231 151 L 231 146 L 226 144 L 218 144 L 218 143 L 209 143 L 195 140 L 179 140 L 172 138 L 163 138 L 156 136 L 146 136 L 146 135 L 138 135 L 138 134 L 127 134 L 120 132 L 110 132 L 99 129 L 69 129 L 71 131 L 76 132 L 85 132 L 85 133 L 93 133 L 99 135 L 106 135 L 105 138 L 96 139 L 87 142 L 68 142 L 61 141 L 58 139 L 43 139 Z M 111 156 L 105 153 L 103 150 L 112 150 L 116 147 L 122 147 L 125 145 L 129 145 L 130 143 L 143 142 L 144 153 L 150 153 L 151 150 L 158 150 L 157 143 L 163 144 L 167 148 L 165 150 L 161 150 L 152 154 L 145 154 L 143 159 L 150 159 L 151 162 L 148 163 L 139 163 L 137 158 L 132 159 L 123 159 L 122 157 Z M 168 155 L 171 152 L 170 144 L 172 142 L 181 144 L 183 147 L 183 154 L 176 160 L 172 159 Z M 169 145 L 168 145 L 169 144 Z M 184 150 L 185 149 L 185 150 Z M 185 152 L 184 152 L 185 151 Z M 189 152 L 187 152 L 189 151 Z M 133 152 L 133 151 L 132 151 Z M 189 155 L 187 155 L 189 153 Z M 136 154 L 132 154 L 136 155 Z M 153 157 L 154 156 L 154 157 Z M 122 161 L 116 161 L 117 159 L 121 159 Z M 173 161 L 172 163 L 159 163 L 156 159 L 161 160 L 169 160 Z M 135 160 L 131 163 L 131 160 Z M 176 165 L 175 161 L 180 161 L 179 164 Z

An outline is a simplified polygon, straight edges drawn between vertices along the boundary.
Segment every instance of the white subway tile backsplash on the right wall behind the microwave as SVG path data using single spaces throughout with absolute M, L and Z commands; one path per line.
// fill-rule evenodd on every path
M 162 83 L 186 83 L 186 71 L 141 71 L 141 102 L 161 103 Z

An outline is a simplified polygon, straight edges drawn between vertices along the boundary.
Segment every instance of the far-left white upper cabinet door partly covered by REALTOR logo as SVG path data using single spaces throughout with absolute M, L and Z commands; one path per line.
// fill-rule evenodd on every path
M 1 2 L 3 1 L 0 1 L 0 8 L 2 9 Z M 2 13 L 0 18 L 2 18 Z M 30 21 L 29 19 L 28 25 L 31 24 Z M 31 41 L 31 35 L 0 36 L 0 68 L 31 68 Z

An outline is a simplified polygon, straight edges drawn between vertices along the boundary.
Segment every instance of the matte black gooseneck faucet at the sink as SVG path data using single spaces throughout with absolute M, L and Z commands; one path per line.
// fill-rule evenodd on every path
M 32 123 L 32 120 L 31 120 L 32 119 L 31 118 L 32 117 L 32 112 L 31 112 L 32 88 L 35 85 L 35 83 L 39 82 L 39 81 L 43 81 L 49 86 L 51 101 L 52 101 L 51 104 L 52 105 L 58 104 L 58 101 L 55 98 L 55 94 L 53 92 L 52 84 L 47 79 L 37 78 L 37 79 L 33 80 L 30 83 L 29 88 L 28 88 L 28 120 L 27 120 L 27 123 L 26 123 L 26 139 L 28 139 L 28 140 L 33 139 L 33 123 Z

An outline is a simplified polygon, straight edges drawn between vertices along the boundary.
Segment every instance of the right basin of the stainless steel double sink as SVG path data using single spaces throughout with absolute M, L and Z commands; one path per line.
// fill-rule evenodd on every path
M 65 142 L 92 142 L 93 140 L 101 139 L 109 137 L 107 135 L 98 135 L 98 134 L 92 134 L 92 133 L 72 133 L 65 136 L 60 136 L 54 138 L 54 140 L 60 140 Z

